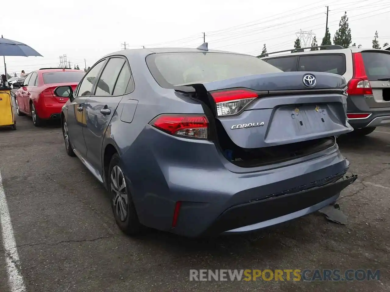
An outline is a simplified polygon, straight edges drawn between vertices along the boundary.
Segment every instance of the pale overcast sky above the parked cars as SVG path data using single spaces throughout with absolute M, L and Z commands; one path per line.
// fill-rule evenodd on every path
M 44 57 L 6 57 L 7 71 L 26 73 L 41 67 L 57 67 L 60 55 L 71 66 L 91 66 L 103 55 L 128 48 L 197 47 L 203 32 L 211 49 L 258 55 L 290 49 L 296 32 L 312 31 L 321 40 L 328 26 L 333 35 L 347 11 L 352 42 L 371 47 L 376 30 L 379 42 L 390 43 L 388 0 L 165 0 L 5 1 L 0 33 L 23 42 Z M 3 4 L 4 4 L 3 3 Z M 386 4 L 387 3 L 387 4 Z M 2 6 L 4 6 L 2 4 Z M 19 7 L 15 11 L 15 7 Z M 0 52 L 1 55 L 1 52 Z M 4 63 L 0 60 L 0 72 Z

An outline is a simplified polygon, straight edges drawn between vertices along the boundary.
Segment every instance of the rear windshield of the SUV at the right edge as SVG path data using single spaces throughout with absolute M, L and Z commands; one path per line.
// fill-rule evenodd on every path
M 390 54 L 377 52 L 362 52 L 367 78 L 370 81 L 390 78 Z

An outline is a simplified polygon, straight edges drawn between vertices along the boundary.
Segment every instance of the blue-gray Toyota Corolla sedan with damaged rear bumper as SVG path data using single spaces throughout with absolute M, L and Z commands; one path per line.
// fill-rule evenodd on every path
M 112 53 L 55 94 L 69 97 L 66 151 L 108 189 L 120 229 L 195 237 L 334 202 L 356 179 L 335 139 L 353 130 L 345 90 L 336 74 L 282 72 L 204 44 Z

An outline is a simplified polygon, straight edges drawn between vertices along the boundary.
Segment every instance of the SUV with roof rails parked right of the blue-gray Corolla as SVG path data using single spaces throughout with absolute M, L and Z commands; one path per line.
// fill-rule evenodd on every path
M 348 83 L 347 120 L 355 135 L 367 135 L 377 126 L 390 123 L 390 46 L 385 48 L 318 46 L 258 57 L 285 72 L 342 75 Z M 282 54 L 270 56 L 276 53 Z

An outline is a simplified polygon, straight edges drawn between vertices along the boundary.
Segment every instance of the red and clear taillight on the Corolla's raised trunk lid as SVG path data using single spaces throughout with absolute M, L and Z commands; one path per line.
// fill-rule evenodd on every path
M 240 113 L 259 95 L 251 90 L 234 89 L 211 92 L 218 116 L 232 116 Z

